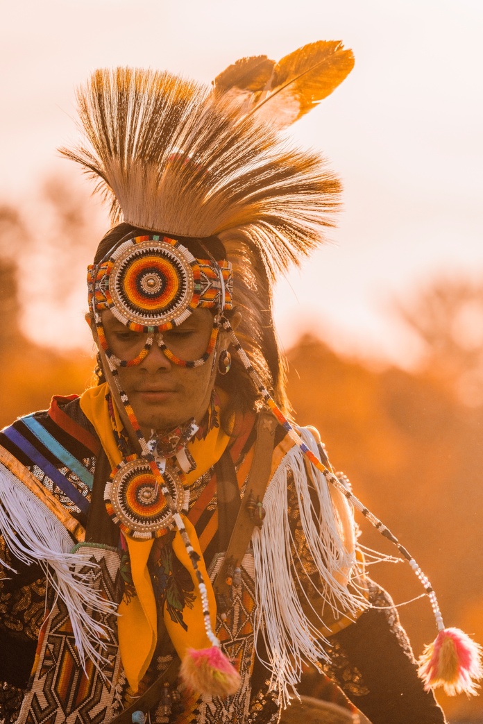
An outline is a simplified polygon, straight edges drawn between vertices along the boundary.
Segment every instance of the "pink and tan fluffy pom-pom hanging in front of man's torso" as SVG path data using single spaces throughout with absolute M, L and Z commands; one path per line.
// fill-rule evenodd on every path
M 189 691 L 208 696 L 230 696 L 240 687 L 240 674 L 216 646 L 188 649 L 182 660 L 180 678 Z

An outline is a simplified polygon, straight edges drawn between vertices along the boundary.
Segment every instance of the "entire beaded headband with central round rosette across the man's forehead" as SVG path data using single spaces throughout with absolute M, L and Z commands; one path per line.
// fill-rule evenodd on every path
M 162 332 L 196 308 L 230 310 L 231 264 L 197 259 L 167 236 L 137 236 L 88 267 L 88 292 L 95 314 L 109 309 L 133 332 Z

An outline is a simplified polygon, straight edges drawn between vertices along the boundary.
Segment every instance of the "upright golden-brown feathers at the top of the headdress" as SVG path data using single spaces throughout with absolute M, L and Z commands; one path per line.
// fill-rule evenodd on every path
M 214 92 L 236 101 L 240 115 L 287 127 L 327 98 L 353 66 L 353 53 L 343 43 L 317 41 L 278 63 L 266 56 L 242 58 L 217 75 Z

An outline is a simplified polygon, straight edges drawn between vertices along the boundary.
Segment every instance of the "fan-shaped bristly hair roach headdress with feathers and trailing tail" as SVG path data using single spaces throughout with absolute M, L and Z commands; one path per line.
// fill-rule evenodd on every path
M 208 237 L 222 240 L 243 309 L 240 341 L 282 408 L 272 285 L 322 243 L 340 184 L 318 155 L 288 148 L 273 117 L 288 125 L 353 66 L 340 43 L 301 51 L 279 64 L 238 61 L 214 88 L 167 72 L 98 70 L 78 94 L 85 143 L 62 149 L 96 179 L 114 224 L 205 239 L 208 250 Z

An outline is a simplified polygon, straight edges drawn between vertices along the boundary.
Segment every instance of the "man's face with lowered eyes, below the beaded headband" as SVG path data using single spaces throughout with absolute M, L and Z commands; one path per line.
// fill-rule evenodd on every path
M 147 335 L 131 332 L 110 311 L 103 311 L 101 318 L 107 343 L 114 355 L 121 360 L 135 358 L 142 350 Z M 180 327 L 163 332 L 163 340 L 180 359 L 196 360 L 206 351 L 212 327 L 211 312 L 198 308 Z M 221 348 L 219 344 L 217 348 Z M 152 429 L 172 429 L 192 417 L 200 421 L 214 387 L 216 369 L 211 371 L 212 361 L 213 353 L 199 367 L 176 365 L 159 349 L 155 337 L 142 362 L 118 368 L 121 387 L 129 397 L 146 439 L 151 437 Z

